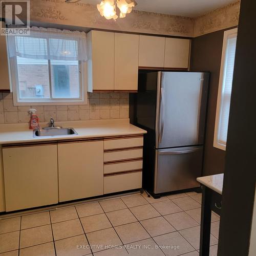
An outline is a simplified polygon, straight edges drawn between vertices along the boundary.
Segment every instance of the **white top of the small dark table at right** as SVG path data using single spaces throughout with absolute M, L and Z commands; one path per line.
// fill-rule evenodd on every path
M 197 181 L 222 195 L 223 177 L 224 174 L 216 174 L 199 177 L 197 178 Z

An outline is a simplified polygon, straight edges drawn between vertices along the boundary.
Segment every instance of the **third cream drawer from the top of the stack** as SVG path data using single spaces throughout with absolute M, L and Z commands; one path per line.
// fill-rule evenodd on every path
M 105 164 L 104 174 L 112 174 L 112 173 L 125 172 L 127 170 L 139 170 L 139 169 L 142 169 L 142 160 Z

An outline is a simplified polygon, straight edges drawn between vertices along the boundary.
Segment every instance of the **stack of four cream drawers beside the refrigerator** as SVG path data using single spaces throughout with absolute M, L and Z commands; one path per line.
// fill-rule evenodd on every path
M 104 139 L 104 194 L 142 187 L 143 135 Z

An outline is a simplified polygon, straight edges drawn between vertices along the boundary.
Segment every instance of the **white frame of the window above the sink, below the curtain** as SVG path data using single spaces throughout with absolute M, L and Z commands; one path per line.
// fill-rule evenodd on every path
M 79 72 L 79 98 L 50 98 L 50 99 L 20 99 L 19 87 L 18 87 L 18 70 L 16 57 L 9 59 L 10 75 L 11 75 L 11 88 L 13 93 L 13 105 L 14 106 L 30 106 L 30 105 L 87 105 L 87 62 L 78 61 Z M 49 86 L 50 97 L 52 97 L 52 81 L 51 81 L 51 65 L 48 60 L 48 74 L 49 74 Z

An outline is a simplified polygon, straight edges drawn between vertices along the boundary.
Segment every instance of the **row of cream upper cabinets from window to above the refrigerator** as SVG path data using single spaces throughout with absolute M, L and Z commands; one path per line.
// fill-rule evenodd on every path
M 188 69 L 190 40 L 92 30 L 87 34 L 88 91 L 137 91 L 138 70 Z

